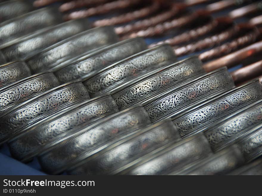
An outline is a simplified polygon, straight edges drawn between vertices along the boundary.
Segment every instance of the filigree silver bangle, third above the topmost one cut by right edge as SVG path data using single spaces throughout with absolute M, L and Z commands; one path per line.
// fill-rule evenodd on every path
M 175 60 L 171 46 L 159 45 L 107 66 L 84 85 L 92 96 L 101 95 L 170 60 Z

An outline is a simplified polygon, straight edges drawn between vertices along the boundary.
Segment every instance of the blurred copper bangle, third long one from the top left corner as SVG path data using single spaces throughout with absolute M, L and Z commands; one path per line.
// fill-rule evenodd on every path
M 158 2 L 153 2 L 151 5 L 144 7 L 140 10 L 135 10 L 134 12 L 129 12 L 112 18 L 106 18 L 102 20 L 95 21 L 93 26 L 107 26 L 107 25 L 116 25 L 121 23 L 127 23 L 132 20 L 145 17 L 150 15 L 157 10 L 159 10 L 160 4 Z

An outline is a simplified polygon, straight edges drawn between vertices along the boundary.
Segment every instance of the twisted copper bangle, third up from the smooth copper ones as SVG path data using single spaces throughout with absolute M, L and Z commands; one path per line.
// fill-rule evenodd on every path
M 177 45 L 183 42 L 195 40 L 198 37 L 203 36 L 209 33 L 210 31 L 212 31 L 213 29 L 215 29 L 217 25 L 218 25 L 218 21 L 212 20 L 203 26 L 197 27 L 196 29 L 192 29 L 190 31 L 177 35 L 171 39 L 167 39 L 167 40 L 160 41 L 157 43 L 152 43 L 151 45 L 149 45 L 149 48 L 159 45 L 159 44 L 163 44 L 163 43 L 169 43 L 171 46 L 174 46 L 174 45 Z

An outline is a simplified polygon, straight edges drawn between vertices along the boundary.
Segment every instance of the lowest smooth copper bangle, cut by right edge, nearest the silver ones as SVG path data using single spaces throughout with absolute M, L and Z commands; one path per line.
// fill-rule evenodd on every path
M 262 60 L 231 72 L 231 76 L 236 83 L 260 76 L 261 74 Z

